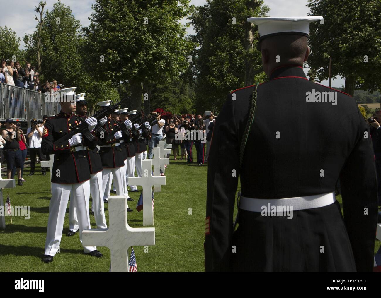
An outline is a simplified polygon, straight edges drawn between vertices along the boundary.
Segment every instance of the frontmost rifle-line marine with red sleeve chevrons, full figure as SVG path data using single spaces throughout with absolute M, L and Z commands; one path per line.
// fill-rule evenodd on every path
M 46 232 L 45 255 L 43 261 L 53 261 L 59 249 L 64 225 L 65 212 L 70 192 L 71 204 L 77 209 L 80 241 L 82 243 L 82 230 L 90 229 L 90 216 L 88 210 L 90 191 L 90 167 L 85 147 L 94 149 L 93 142 L 76 134 L 69 139 L 68 134 L 72 128 L 82 121 L 89 124 L 92 131 L 97 123 L 95 118 L 85 119 L 75 115 L 75 87 L 59 91 L 61 112 L 46 120 L 42 135 L 42 153 L 54 154 L 53 175 L 51 177 L 51 200 L 49 205 L 48 229 Z M 84 247 L 85 253 L 95 257 L 102 257 L 96 247 Z

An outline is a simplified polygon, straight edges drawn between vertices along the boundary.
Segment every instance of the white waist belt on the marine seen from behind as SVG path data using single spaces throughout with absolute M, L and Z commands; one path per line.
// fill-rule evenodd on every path
M 336 201 L 335 193 L 315 194 L 313 196 L 283 199 L 253 199 L 240 197 L 239 208 L 252 212 L 262 212 L 263 206 L 292 206 L 292 210 L 319 208 Z

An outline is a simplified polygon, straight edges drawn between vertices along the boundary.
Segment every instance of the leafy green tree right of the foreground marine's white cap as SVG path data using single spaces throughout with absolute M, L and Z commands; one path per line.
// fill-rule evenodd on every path
M 345 77 L 345 92 L 354 95 L 355 87 L 381 88 L 381 2 L 379 0 L 309 0 L 309 15 L 323 16 L 324 24 L 310 24 L 309 64 L 320 79 Z M 367 56 L 367 59 L 365 58 Z M 367 62 L 366 62 L 367 61 Z M 365 82 L 366 81 L 366 82 Z

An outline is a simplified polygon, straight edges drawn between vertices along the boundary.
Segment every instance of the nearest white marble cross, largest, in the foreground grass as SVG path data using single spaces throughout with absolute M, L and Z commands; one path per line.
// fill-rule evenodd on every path
M 155 228 L 131 228 L 127 223 L 127 197 L 110 196 L 109 228 L 84 229 L 82 242 L 83 246 L 107 246 L 111 253 L 111 272 L 128 272 L 128 248 L 155 245 Z

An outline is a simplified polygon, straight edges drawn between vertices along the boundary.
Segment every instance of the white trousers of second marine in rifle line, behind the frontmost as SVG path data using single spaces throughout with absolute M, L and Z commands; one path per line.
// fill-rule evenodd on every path
M 91 204 L 94 211 L 94 218 L 97 228 L 107 229 L 106 217 L 104 216 L 104 204 L 103 204 L 103 189 L 102 189 L 102 172 L 98 172 L 90 175 L 90 194 L 93 198 Z M 70 231 L 78 231 L 78 218 L 77 210 L 74 204 L 69 206 L 69 229 Z

